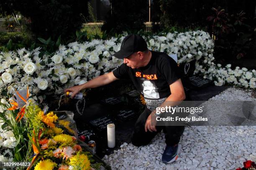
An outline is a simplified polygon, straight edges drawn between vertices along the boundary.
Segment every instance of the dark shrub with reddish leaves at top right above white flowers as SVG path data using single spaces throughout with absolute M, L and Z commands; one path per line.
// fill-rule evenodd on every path
M 221 59 L 241 59 L 255 57 L 256 32 L 253 21 L 241 11 L 236 15 L 226 13 L 225 9 L 212 8 L 213 15 L 207 17 L 212 33 L 216 36 L 215 53 Z M 218 59 L 218 57 L 216 57 Z

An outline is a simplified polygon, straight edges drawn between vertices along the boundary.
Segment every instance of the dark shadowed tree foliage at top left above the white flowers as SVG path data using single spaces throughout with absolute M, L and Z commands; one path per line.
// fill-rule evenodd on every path
M 74 40 L 75 31 L 83 23 L 80 16 L 87 16 L 88 0 L 8 0 L 6 2 L 14 10 L 30 18 L 31 31 L 36 37 L 54 40 L 61 35 L 62 40 Z

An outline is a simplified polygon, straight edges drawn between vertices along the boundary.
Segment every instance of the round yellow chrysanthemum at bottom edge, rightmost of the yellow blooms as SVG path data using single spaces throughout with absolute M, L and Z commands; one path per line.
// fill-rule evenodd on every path
M 90 160 L 87 155 L 79 152 L 70 158 L 70 165 L 73 166 L 73 170 L 90 170 Z

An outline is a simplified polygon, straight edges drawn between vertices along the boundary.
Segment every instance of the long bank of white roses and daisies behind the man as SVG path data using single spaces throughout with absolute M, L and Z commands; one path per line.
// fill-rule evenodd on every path
M 83 84 L 105 74 L 123 63 L 113 56 L 120 49 L 123 38 L 72 42 L 67 46 L 60 45 L 59 50 L 52 54 L 40 52 L 41 47 L 0 52 L 0 96 L 12 95 L 15 89 L 29 86 L 31 97 L 41 103 L 45 94 L 61 94 L 64 88 Z M 214 42 L 204 31 L 174 32 L 144 38 L 148 49 L 166 52 L 168 55 L 177 54 L 179 63 L 196 60 L 195 73 L 215 80 L 216 85 L 232 83 L 240 87 L 255 87 L 255 70 L 240 75 L 239 69 L 239 74 L 235 74 L 237 70 L 215 65 L 212 54 Z M 236 78 L 241 79 L 241 82 L 237 80 L 236 83 L 233 76 L 227 76 L 226 71 L 227 74 L 234 72 L 235 77 L 240 75 Z M 254 79 L 249 81 L 244 78 L 246 75 Z

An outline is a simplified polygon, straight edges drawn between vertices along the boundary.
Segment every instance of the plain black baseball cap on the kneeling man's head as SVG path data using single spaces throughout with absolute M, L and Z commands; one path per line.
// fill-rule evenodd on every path
M 119 59 L 124 59 L 132 55 L 133 52 L 145 51 L 147 49 L 148 46 L 143 37 L 137 34 L 131 34 L 123 39 L 120 50 L 113 55 Z

